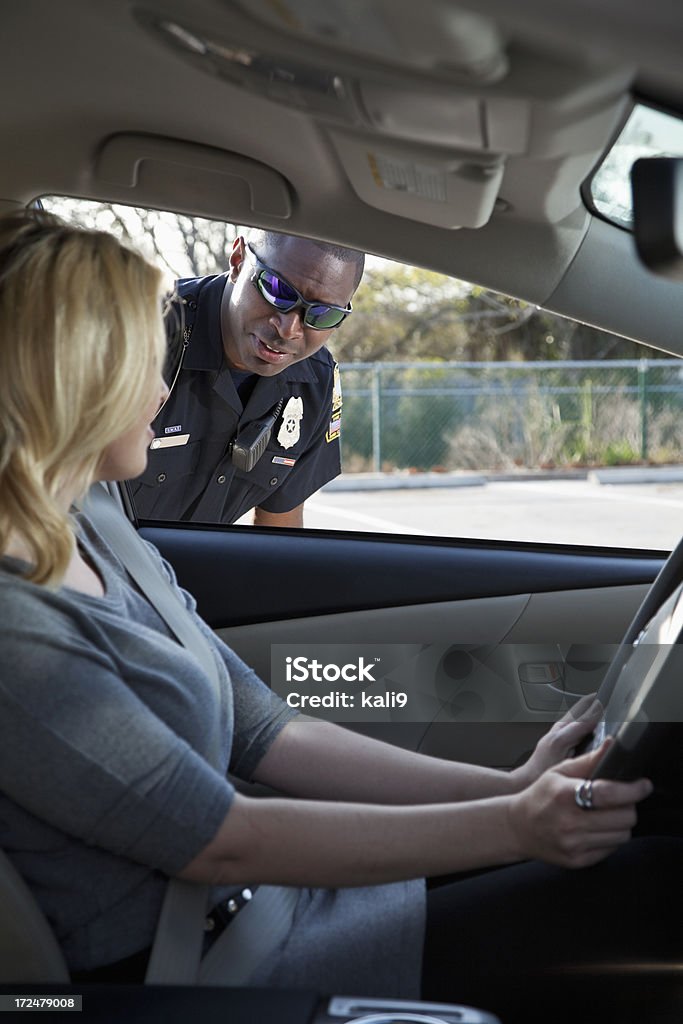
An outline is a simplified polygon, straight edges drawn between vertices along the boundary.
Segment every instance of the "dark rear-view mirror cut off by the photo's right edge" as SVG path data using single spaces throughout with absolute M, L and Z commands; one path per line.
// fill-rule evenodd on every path
M 637 160 L 631 187 L 640 259 L 654 273 L 683 281 L 683 159 Z

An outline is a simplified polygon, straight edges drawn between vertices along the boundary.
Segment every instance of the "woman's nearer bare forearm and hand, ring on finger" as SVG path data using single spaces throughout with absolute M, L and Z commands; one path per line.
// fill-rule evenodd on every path
M 384 806 L 236 796 L 218 833 L 180 877 L 212 885 L 365 886 L 541 858 L 597 863 L 630 838 L 651 784 L 594 783 L 573 799 L 599 751 L 563 762 L 522 793 L 464 804 Z M 317 770 L 311 768 L 311 771 Z

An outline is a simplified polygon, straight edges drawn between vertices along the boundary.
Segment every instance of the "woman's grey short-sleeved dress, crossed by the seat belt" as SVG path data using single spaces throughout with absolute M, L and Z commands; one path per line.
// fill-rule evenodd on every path
M 180 591 L 213 646 L 218 701 L 116 555 L 79 522 L 103 598 L 49 591 L 24 580 L 20 562 L 0 560 L 0 844 L 71 969 L 88 970 L 152 943 L 168 877 L 229 811 L 226 772 L 250 779 L 295 713 Z M 423 918 L 421 882 L 302 890 L 290 935 L 253 981 L 414 996 Z

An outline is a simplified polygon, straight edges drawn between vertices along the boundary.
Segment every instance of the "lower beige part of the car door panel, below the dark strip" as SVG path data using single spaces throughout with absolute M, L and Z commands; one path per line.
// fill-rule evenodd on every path
M 298 653 L 311 637 L 327 646 L 330 660 L 340 663 L 349 644 L 400 644 L 405 666 L 398 678 L 410 694 L 408 709 L 392 711 L 391 721 L 345 724 L 435 757 L 509 768 L 577 695 L 597 690 L 646 590 L 640 585 L 520 594 L 217 632 L 266 681 L 273 649 Z M 605 642 L 593 643 L 596 635 Z M 577 668 L 578 652 L 594 659 Z M 529 682 L 531 670 L 536 678 Z

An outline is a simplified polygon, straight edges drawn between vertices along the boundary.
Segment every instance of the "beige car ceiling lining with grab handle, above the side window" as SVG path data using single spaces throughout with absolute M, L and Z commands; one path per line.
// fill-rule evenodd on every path
M 683 289 L 643 269 L 631 236 L 592 215 L 581 196 L 634 92 L 683 110 L 677 0 L 517 0 L 513 12 L 506 0 L 457 7 L 450 0 L 365 0 L 350 47 L 343 39 L 306 38 L 293 16 L 273 28 L 248 12 L 282 13 L 289 2 L 3 5 L 0 208 L 63 194 L 328 238 L 683 352 Z M 351 13 L 362 7 L 327 0 L 322 9 L 332 17 L 345 6 Z M 453 65 L 436 59 L 449 10 L 489 19 L 483 29 L 500 38 L 501 66 L 488 79 L 459 70 L 455 57 Z M 395 58 L 357 51 L 371 15 L 390 29 Z M 354 115 L 315 113 L 227 81 L 151 28 L 160 22 L 251 57 L 276 58 L 286 73 L 333 71 L 355 97 Z M 372 49 L 371 20 L 367 28 Z M 468 46 L 480 40 L 481 32 L 454 29 L 454 54 L 460 45 L 466 63 Z M 430 46 L 431 63 L 424 60 Z M 411 121 L 414 101 L 418 112 L 435 112 L 438 141 L 416 139 L 422 125 L 419 113 Z M 496 138 L 484 131 L 480 144 L 463 144 L 451 103 L 474 111 L 475 120 L 479 112 L 487 130 L 496 123 Z M 407 118 L 409 127 L 396 130 Z M 416 219 L 411 197 L 397 188 L 377 189 L 382 201 L 371 205 L 352 184 L 353 146 L 458 166 L 451 181 L 456 193 L 463 189 L 456 195 L 461 208 L 473 182 L 478 195 L 477 182 L 502 168 L 493 212 L 483 226 L 454 228 L 441 226 L 438 204 L 423 204 L 427 214 Z M 381 208 L 403 199 L 408 216 Z

